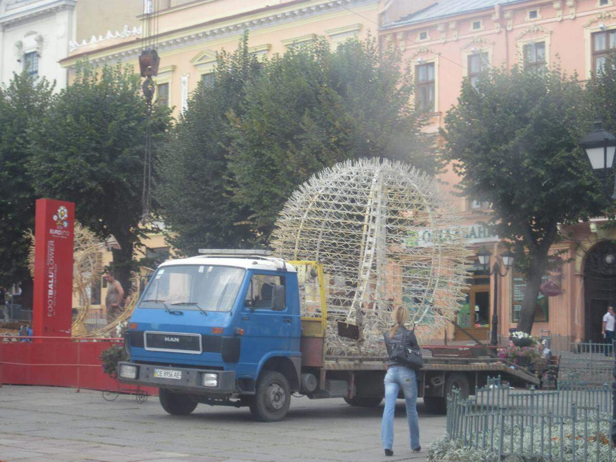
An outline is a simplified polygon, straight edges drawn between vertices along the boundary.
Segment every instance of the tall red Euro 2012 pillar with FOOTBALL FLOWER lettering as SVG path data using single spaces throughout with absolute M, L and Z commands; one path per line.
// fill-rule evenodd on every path
M 75 203 L 36 200 L 34 336 L 71 336 Z

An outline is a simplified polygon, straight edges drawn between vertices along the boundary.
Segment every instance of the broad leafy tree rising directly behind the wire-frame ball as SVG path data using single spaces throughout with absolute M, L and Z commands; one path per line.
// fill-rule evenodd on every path
M 228 157 L 233 200 L 259 235 L 298 185 L 336 162 L 378 156 L 434 172 L 412 94 L 400 55 L 371 39 L 335 51 L 320 39 L 266 61 L 232 120 Z

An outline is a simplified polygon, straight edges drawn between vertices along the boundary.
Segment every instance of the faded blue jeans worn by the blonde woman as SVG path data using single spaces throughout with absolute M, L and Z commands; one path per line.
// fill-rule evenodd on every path
M 408 431 L 410 432 L 411 449 L 419 447 L 419 421 L 417 418 L 417 376 L 408 367 L 390 367 L 385 375 L 385 408 L 381 423 L 381 441 L 384 449 L 394 445 L 394 410 L 400 387 L 407 402 Z

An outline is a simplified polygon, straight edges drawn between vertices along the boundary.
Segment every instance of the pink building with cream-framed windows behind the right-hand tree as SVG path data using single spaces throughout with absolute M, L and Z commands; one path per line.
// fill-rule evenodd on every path
M 388 22 L 389 20 L 389 22 Z M 416 81 L 416 102 L 431 113 L 427 130 L 436 132 L 455 105 L 463 78 L 476 78 L 488 66 L 525 67 L 559 64 L 567 73 L 588 79 L 601 68 L 610 47 L 616 47 L 614 0 L 439 0 L 391 21 L 381 17 L 381 46 L 395 46 L 410 60 Z M 455 184 L 452 172 L 443 179 Z M 480 225 L 489 204 L 453 198 L 469 225 L 473 246 L 503 251 L 498 237 Z M 601 317 L 616 303 L 616 232 L 598 227 L 602 220 L 572 227 L 572 240 L 559 243 L 573 261 L 551 274 L 562 289 L 540 296 L 533 333 L 549 330 L 572 341 L 601 341 Z M 458 323 L 485 339 L 491 328 L 494 277 L 479 268 Z M 524 277 L 509 272 L 498 281 L 499 333 L 516 326 Z M 448 337 L 468 339 L 453 328 Z

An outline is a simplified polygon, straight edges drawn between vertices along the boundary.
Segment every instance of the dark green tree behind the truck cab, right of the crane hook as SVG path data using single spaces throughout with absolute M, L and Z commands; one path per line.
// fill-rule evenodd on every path
M 200 83 L 188 99 L 156 166 L 161 181 L 155 197 L 174 231 L 169 240 L 184 254 L 249 247 L 258 240 L 245 221 L 248 208 L 230 200 L 233 177 L 225 147 L 231 142 L 227 113 L 241 115 L 245 84 L 261 66 L 248 52 L 246 34 L 235 52 L 217 58 L 213 84 Z

